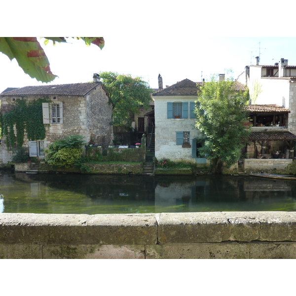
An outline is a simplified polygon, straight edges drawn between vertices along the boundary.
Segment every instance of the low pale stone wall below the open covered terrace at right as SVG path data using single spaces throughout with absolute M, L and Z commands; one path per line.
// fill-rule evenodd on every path
M 258 159 L 258 158 L 245 158 L 244 159 L 244 170 L 286 170 L 289 164 L 292 164 L 293 159 L 290 158 L 269 158 L 269 159 Z

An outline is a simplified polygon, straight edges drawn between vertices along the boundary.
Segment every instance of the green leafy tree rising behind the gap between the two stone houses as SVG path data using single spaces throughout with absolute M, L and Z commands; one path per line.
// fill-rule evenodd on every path
M 139 113 L 139 107 L 148 108 L 151 89 L 141 77 L 133 78 L 113 72 L 101 72 L 100 78 L 112 105 L 114 126 L 131 124 L 131 113 Z

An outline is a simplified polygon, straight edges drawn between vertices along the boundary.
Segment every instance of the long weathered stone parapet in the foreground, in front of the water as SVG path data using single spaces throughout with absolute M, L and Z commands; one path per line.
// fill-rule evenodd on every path
M 296 259 L 296 213 L 2 213 L 0 258 Z

